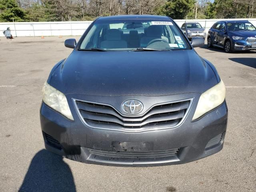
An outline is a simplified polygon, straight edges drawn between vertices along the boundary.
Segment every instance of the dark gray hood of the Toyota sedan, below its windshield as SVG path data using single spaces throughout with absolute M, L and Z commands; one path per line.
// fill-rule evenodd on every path
M 217 78 L 194 50 L 73 51 L 48 83 L 64 94 L 154 96 L 202 93 Z

